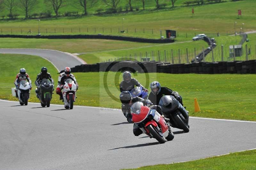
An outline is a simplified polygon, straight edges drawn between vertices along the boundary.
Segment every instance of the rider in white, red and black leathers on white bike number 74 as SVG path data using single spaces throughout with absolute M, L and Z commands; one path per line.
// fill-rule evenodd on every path
M 57 88 L 56 88 L 56 93 L 58 95 L 60 95 L 60 100 L 63 99 L 61 90 L 63 89 L 63 85 L 65 84 L 65 81 L 67 79 L 73 80 L 75 82 L 75 84 L 76 84 L 76 90 L 78 89 L 78 84 L 77 84 L 76 78 L 75 78 L 75 76 L 73 74 L 71 74 L 70 67 L 65 67 L 64 73 L 60 73 L 60 75 L 59 75 L 58 85 L 57 85 Z

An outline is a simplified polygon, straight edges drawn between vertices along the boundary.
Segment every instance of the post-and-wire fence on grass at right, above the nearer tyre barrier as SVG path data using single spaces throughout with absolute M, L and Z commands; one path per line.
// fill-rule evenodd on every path
M 232 46 L 232 47 L 231 47 Z M 245 61 L 256 59 L 256 44 L 244 44 L 241 48 L 234 50 L 234 45 L 231 46 L 216 46 L 213 50 L 204 56 L 204 61 L 207 62 L 218 62 L 218 61 Z M 134 54 L 128 54 L 118 58 L 108 57 L 102 62 L 118 61 L 122 60 L 123 57 L 133 58 L 138 61 L 159 61 L 167 62 L 171 64 L 184 64 L 191 63 L 191 60 L 196 58 L 202 50 L 202 48 L 194 49 L 178 49 L 178 50 L 157 50 L 157 51 L 144 51 Z

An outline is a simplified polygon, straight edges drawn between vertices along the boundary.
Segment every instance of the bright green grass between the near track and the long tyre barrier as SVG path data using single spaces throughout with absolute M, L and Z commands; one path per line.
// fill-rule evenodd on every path
M 38 66 L 31 65 L 24 60 L 26 57 L 32 63 L 40 63 Z M 9 65 L 11 63 L 11 65 Z M 20 67 L 25 67 L 34 83 L 36 75 L 40 72 L 41 66 L 46 66 L 57 82 L 57 70 L 43 58 L 25 55 L 0 55 L 5 80 L 0 89 L 0 98 L 5 100 L 17 101 L 11 97 L 11 88 L 14 87 L 13 81 Z M 103 84 L 104 73 L 74 73 L 79 83 L 76 105 L 98 106 L 98 107 L 120 107 L 120 102 L 111 99 L 105 91 Z M 86 79 L 84 78 L 86 77 Z M 119 97 L 119 82 L 121 74 L 109 72 L 105 85 L 109 88 L 114 97 Z M 146 77 L 139 73 L 133 75 L 145 87 Z M 115 81 L 113 81 L 115 80 Z M 190 112 L 190 116 L 233 119 L 233 120 L 256 120 L 256 75 L 255 74 L 166 74 L 149 73 L 149 83 L 159 81 L 164 87 L 178 91 L 183 97 L 184 104 Z M 35 96 L 35 86 L 31 91 L 29 102 L 39 102 Z M 194 98 L 197 98 L 201 111 L 194 113 Z M 53 95 L 52 104 L 62 104 L 56 94 Z

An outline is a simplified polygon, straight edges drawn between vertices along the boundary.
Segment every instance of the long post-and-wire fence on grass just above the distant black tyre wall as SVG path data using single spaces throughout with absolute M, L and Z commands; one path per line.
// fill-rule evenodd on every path
M 138 35 L 154 35 L 154 37 L 166 37 L 164 29 L 151 28 L 132 28 L 132 27 L 39 27 L 39 28 L 0 28 L 0 34 L 123 34 L 124 36 Z M 202 32 L 180 32 L 176 31 L 176 37 L 191 38 Z M 232 32 L 226 33 L 204 33 L 209 37 L 232 35 Z

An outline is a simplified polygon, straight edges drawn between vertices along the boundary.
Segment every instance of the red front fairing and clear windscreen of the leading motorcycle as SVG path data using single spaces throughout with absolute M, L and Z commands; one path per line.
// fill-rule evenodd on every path
M 139 123 L 145 120 L 149 114 L 150 108 L 147 106 L 143 106 L 142 102 L 136 102 L 132 104 L 131 107 L 131 114 L 132 114 L 132 121 L 134 123 Z

